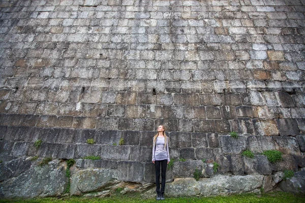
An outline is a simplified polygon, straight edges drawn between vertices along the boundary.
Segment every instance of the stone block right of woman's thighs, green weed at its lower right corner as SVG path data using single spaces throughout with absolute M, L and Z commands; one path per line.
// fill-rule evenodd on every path
M 195 169 L 202 171 L 201 160 L 176 161 L 173 167 L 173 175 L 176 177 L 194 177 Z

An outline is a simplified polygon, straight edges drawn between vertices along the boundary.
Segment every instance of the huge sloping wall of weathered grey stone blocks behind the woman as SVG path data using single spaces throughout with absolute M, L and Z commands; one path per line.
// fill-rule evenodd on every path
M 0 196 L 61 195 L 70 183 L 71 193 L 82 194 L 119 187 L 114 179 L 144 191 L 155 181 L 151 147 L 160 124 L 176 160 L 167 179 L 182 178 L 169 186 L 172 195 L 179 184 L 195 184 L 183 178 L 196 169 L 214 181 L 183 195 L 240 193 L 238 184 L 251 180 L 244 192 L 271 190 L 285 170 L 305 179 L 304 5 L 1 0 Z M 242 155 L 247 149 L 254 158 Z M 282 160 L 270 163 L 266 150 L 281 151 Z M 39 168 L 34 156 L 57 161 Z M 66 159 L 76 160 L 70 181 L 62 176 Z M 26 174 L 50 171 L 62 183 L 54 175 L 50 190 L 18 192 L 32 187 L 17 184 Z M 304 192 L 297 179 L 281 188 Z

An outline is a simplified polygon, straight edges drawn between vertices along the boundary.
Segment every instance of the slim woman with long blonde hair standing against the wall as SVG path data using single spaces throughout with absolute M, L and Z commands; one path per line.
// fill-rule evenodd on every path
M 165 127 L 160 125 L 158 127 L 158 133 L 153 139 L 153 163 L 156 168 L 156 192 L 157 200 L 164 200 L 164 189 L 166 181 L 166 166 L 169 163 L 169 152 L 168 152 L 168 137 L 165 134 Z M 161 190 L 160 190 L 160 165 L 161 165 Z

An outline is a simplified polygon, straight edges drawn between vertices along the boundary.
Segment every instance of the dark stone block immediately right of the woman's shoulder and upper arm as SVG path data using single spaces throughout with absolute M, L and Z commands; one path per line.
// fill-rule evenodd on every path
M 192 147 L 192 139 L 190 132 L 171 132 L 170 147 L 189 148 Z

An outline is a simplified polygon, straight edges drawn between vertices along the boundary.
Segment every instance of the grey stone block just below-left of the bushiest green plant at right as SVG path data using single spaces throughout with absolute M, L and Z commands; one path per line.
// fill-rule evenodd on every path
M 255 155 L 254 158 L 242 156 L 243 162 L 245 162 L 246 174 L 261 174 L 271 175 L 272 165 L 264 155 Z

